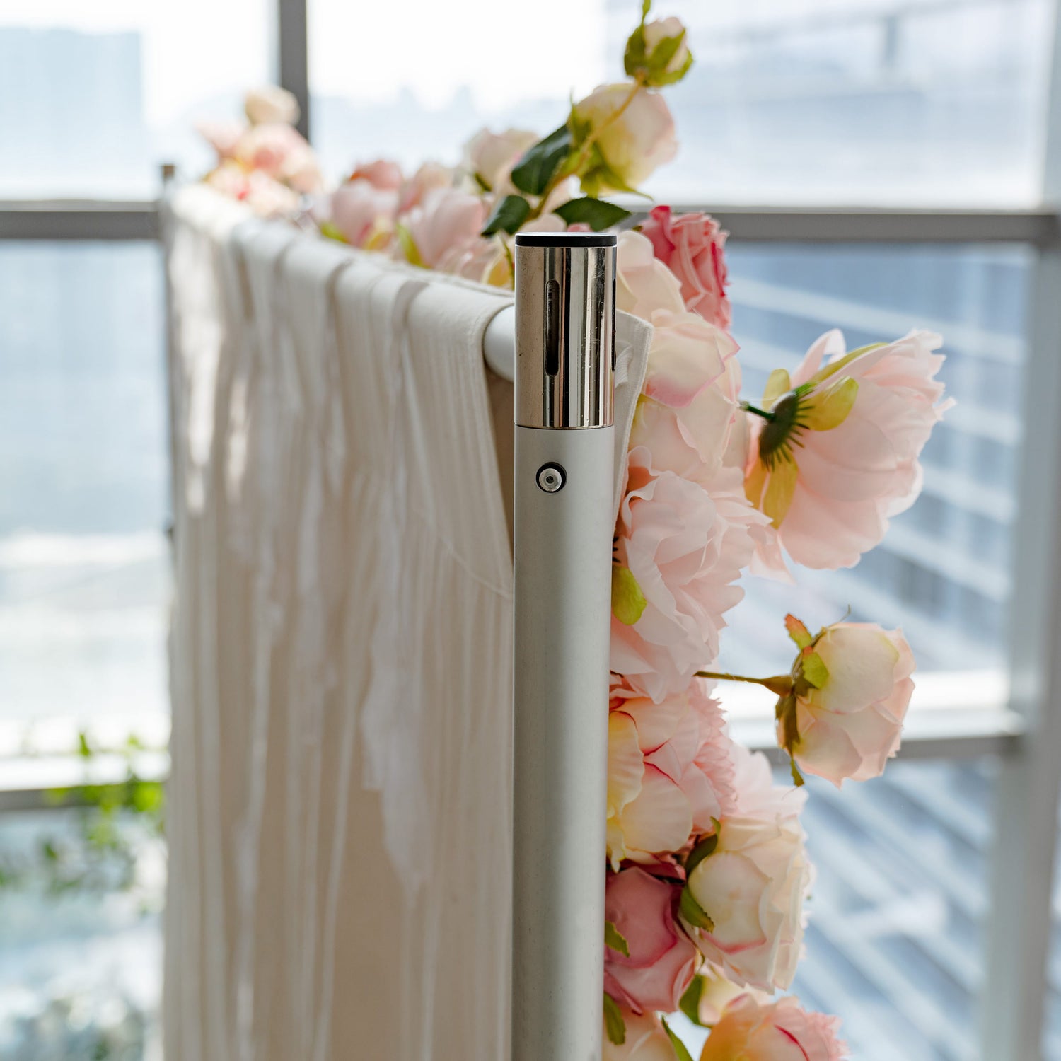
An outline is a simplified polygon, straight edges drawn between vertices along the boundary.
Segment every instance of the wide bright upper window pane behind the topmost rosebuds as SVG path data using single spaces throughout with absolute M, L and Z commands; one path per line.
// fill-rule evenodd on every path
M 638 13 L 633 0 L 542 0 L 533 18 L 490 0 L 310 7 L 314 138 L 333 174 L 379 155 L 455 161 L 484 124 L 547 133 L 572 90 L 622 75 Z M 697 57 L 667 90 L 681 151 L 646 185 L 657 197 L 1038 202 L 1050 0 L 657 7 L 685 21 Z M 397 24 L 417 28 L 400 48 Z M 383 44 L 351 60 L 352 40 Z

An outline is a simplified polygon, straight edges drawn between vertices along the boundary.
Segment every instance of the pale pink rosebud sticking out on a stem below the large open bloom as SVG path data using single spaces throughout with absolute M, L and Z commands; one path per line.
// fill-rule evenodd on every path
M 914 692 L 914 654 L 901 630 L 834 623 L 812 638 L 788 616 L 800 654 L 779 702 L 778 743 L 800 769 L 837 787 L 880 777 L 899 749 Z M 792 727 L 792 731 L 789 731 Z

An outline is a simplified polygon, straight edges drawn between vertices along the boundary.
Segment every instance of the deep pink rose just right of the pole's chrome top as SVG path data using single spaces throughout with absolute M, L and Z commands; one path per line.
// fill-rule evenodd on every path
M 685 309 L 728 329 L 731 313 L 724 254 L 727 233 L 718 222 L 703 213 L 674 216 L 671 207 L 658 206 L 641 231 L 651 241 L 656 257 L 678 278 Z

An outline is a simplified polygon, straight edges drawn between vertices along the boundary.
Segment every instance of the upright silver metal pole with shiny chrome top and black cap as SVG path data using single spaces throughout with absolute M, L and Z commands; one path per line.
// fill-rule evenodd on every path
M 615 237 L 516 237 L 512 1061 L 602 1042 Z

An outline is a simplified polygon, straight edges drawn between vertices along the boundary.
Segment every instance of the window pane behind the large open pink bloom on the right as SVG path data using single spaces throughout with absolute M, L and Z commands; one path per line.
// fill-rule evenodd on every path
M 771 369 L 795 367 L 831 327 L 849 349 L 916 327 L 943 335 L 940 378 L 958 404 L 925 447 L 922 495 L 892 519 L 882 545 L 850 571 L 801 569 L 796 587 L 749 579 L 724 663 L 786 669 L 792 646 L 777 615 L 792 611 L 817 627 L 850 608 L 855 620 L 902 626 L 921 672 L 1001 669 L 1029 253 L 735 240 L 729 262 L 747 396 L 762 393 Z

